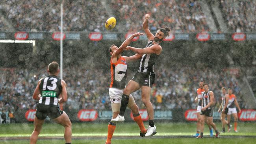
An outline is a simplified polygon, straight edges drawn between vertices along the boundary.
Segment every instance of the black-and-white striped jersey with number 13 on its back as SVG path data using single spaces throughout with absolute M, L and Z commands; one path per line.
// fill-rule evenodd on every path
M 58 105 L 59 94 L 62 91 L 60 78 L 54 75 L 43 78 L 39 89 L 41 93 L 39 103 L 44 105 Z

